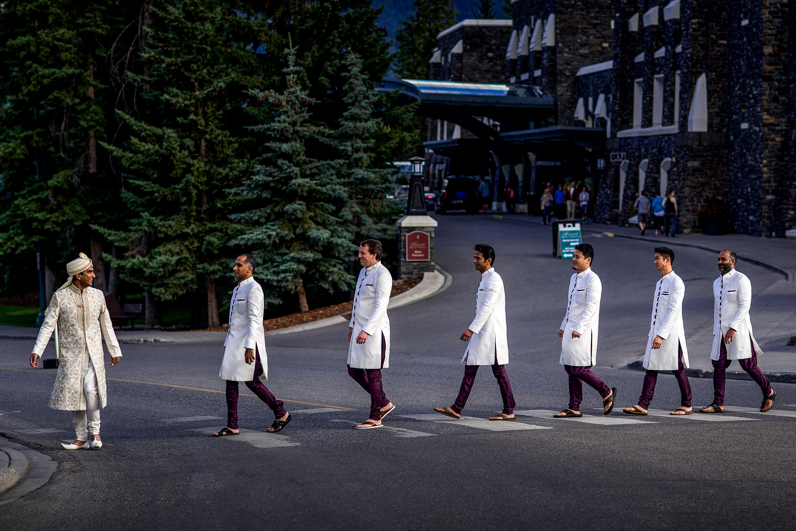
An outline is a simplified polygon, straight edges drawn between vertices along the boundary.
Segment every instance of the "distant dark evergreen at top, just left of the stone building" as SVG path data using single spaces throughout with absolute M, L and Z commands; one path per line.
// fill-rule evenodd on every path
M 427 79 L 437 34 L 456 23 L 458 11 L 451 0 L 415 0 L 414 6 L 396 35 L 395 71 L 404 79 Z

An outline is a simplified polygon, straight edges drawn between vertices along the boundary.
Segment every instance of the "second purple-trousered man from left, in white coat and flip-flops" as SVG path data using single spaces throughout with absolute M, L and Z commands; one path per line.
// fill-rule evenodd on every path
M 378 240 L 365 240 L 359 246 L 362 269 L 349 322 L 348 371 L 370 395 L 370 417 L 354 426 L 357 429 L 381 428 L 381 420 L 396 409 L 381 386 L 381 370 L 390 366 L 387 306 L 392 293 L 392 275 L 381 263 L 381 253 Z

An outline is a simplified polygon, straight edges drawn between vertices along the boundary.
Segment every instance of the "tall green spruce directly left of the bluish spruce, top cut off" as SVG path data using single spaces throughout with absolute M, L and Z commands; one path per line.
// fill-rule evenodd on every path
M 104 228 L 127 246 L 115 263 L 123 279 L 172 300 L 207 289 L 209 326 L 219 326 L 216 282 L 230 266 L 227 243 L 238 234 L 224 192 L 250 168 L 225 120 L 244 103 L 244 65 L 253 52 L 232 41 L 247 21 L 216 0 L 171 0 L 152 9 L 142 60 L 150 112 L 119 113 L 131 128 L 123 147 L 104 144 L 127 170 L 123 199 L 129 231 Z M 249 47 L 252 48 L 252 47 Z

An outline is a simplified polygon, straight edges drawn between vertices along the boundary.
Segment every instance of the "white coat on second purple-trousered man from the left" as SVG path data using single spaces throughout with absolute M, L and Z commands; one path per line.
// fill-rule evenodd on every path
M 349 366 L 356 369 L 386 369 L 390 366 L 390 320 L 387 316 L 390 293 L 392 275 L 381 262 L 362 268 L 349 322 L 349 328 L 353 328 L 349 341 Z M 358 345 L 357 335 L 363 330 L 370 337 Z M 381 363 L 382 335 L 387 343 L 384 365 Z

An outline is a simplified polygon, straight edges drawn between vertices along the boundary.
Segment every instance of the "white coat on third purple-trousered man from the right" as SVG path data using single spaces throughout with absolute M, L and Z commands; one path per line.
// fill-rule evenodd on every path
M 597 362 L 599 300 L 602 295 L 603 283 L 591 267 L 569 279 L 567 315 L 560 328 L 564 331 L 561 365 L 591 366 Z M 572 339 L 572 331 L 578 332 L 580 337 Z

